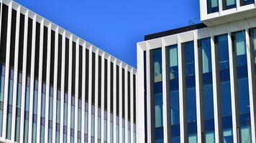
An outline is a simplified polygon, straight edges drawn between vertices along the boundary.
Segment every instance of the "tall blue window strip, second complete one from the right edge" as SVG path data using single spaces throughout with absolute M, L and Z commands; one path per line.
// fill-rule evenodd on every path
M 229 46 L 227 34 L 215 37 L 215 46 L 219 56 L 219 81 L 221 96 L 221 122 L 224 142 L 233 142 L 232 104 L 229 77 Z

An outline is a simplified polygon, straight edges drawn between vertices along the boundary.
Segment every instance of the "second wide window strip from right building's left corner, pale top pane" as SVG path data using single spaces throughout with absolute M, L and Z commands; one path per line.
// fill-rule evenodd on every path
M 180 107 L 178 92 L 178 46 L 168 46 L 170 63 L 171 142 L 180 142 Z

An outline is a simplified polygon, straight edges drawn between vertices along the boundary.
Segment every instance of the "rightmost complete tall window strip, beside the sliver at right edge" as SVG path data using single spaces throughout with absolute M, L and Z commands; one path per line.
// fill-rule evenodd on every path
M 250 132 L 250 99 L 247 76 L 247 53 L 245 31 L 237 31 L 232 34 L 234 51 L 236 51 L 237 86 L 239 101 L 240 137 L 241 142 L 252 142 Z

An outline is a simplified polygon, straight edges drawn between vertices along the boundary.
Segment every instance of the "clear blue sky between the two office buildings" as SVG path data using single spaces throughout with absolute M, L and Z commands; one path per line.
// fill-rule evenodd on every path
M 15 0 L 137 67 L 144 36 L 199 22 L 199 0 Z

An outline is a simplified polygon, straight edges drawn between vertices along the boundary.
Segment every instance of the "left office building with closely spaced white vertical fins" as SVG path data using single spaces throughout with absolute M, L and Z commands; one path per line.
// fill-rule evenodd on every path
M 137 70 L 0 1 L 0 142 L 136 142 Z

